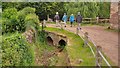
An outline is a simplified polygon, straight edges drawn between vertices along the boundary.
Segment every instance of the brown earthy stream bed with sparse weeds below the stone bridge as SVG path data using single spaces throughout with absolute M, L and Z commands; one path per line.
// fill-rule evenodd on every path
M 37 66 L 70 66 L 70 60 L 66 49 L 55 48 L 52 51 L 46 49 L 40 55 L 39 49 L 35 49 L 35 63 Z M 55 58 L 56 57 L 56 58 Z

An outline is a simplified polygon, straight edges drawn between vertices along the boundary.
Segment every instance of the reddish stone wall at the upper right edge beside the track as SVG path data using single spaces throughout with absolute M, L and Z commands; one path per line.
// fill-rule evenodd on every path
M 111 2 L 110 24 L 112 28 L 118 29 L 118 2 Z

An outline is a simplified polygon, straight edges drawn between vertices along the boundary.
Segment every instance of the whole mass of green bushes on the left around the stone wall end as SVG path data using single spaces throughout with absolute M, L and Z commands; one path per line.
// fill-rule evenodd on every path
M 23 32 L 32 29 L 37 33 L 39 23 L 35 9 L 26 7 L 20 11 L 8 8 L 2 14 L 2 66 L 33 66 L 35 63 L 34 43 L 28 43 Z M 34 40 L 36 41 L 36 39 Z

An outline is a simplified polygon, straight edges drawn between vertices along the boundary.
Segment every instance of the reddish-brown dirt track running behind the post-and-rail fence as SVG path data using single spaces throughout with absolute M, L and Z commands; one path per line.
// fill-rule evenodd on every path
M 49 27 L 55 27 L 54 24 L 47 24 Z M 76 26 L 65 28 L 76 33 Z M 102 26 L 83 26 L 82 30 L 88 32 L 90 38 L 96 45 L 102 47 L 103 52 L 109 57 L 116 65 L 118 65 L 118 33 L 106 31 Z

